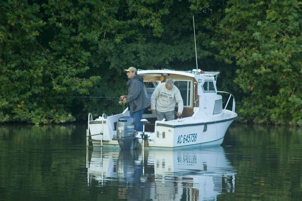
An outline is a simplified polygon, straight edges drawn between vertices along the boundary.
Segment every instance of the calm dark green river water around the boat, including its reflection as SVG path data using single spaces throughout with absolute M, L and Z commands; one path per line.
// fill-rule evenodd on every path
M 301 200 L 302 129 L 233 124 L 223 146 L 86 149 L 86 124 L 0 126 L 0 200 Z

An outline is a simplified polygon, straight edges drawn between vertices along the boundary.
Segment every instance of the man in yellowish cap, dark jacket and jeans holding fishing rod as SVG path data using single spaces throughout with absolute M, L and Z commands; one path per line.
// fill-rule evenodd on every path
M 124 70 L 127 73 L 128 79 L 126 84 L 128 88 L 128 95 L 120 96 L 123 103 L 128 103 L 128 110 L 130 110 L 130 117 L 136 121 L 137 131 L 143 131 L 143 124 L 140 120 L 143 118 L 143 112 L 148 107 L 149 97 L 147 90 L 143 85 L 143 77 L 137 75 L 137 70 L 130 67 Z

